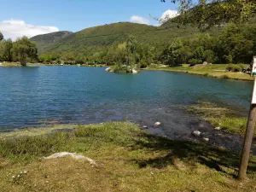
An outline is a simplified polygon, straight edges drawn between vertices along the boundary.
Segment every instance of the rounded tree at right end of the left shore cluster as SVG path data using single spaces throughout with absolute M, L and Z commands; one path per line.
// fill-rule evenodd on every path
M 26 59 L 38 59 L 37 45 L 28 38 L 19 38 L 14 44 L 15 55 L 22 66 L 26 66 Z

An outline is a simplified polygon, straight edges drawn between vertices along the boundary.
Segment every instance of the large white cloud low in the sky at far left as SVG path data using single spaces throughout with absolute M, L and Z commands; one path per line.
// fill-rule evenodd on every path
M 49 32 L 58 32 L 59 29 L 55 26 L 33 26 L 26 24 L 24 20 L 3 20 L 0 21 L 0 32 L 3 33 L 4 38 L 21 38 L 26 36 L 32 38 L 39 34 L 45 34 Z

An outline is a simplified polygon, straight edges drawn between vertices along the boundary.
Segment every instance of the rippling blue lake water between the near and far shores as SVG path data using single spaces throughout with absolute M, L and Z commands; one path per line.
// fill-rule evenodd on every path
M 179 106 L 218 102 L 247 116 L 252 82 L 160 71 L 114 74 L 104 69 L 1 67 L 0 130 L 127 119 L 148 126 L 160 121 L 159 133 L 191 139 L 191 131 L 201 126 L 207 127 L 203 131 L 209 137 L 215 132 Z M 218 138 L 214 143 L 223 143 Z

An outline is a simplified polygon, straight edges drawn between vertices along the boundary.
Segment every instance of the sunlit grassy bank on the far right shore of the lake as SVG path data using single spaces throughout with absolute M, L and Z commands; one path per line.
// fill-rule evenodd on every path
M 161 65 L 150 65 L 146 69 L 198 74 L 219 79 L 253 80 L 253 78 L 246 73 L 225 72 L 226 67 L 229 66 L 228 64 L 195 65 L 194 67 L 189 67 L 189 65 L 186 64 L 183 64 L 182 66 L 178 67 L 160 66 Z M 246 67 L 247 65 L 242 66 Z

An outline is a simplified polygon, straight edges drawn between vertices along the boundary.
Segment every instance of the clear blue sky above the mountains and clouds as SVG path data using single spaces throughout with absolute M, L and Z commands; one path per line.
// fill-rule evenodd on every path
M 0 22 L 22 20 L 32 26 L 55 26 L 60 31 L 72 32 L 130 21 L 133 15 L 156 25 L 149 15 L 160 17 L 167 9 L 176 9 L 171 1 L 160 0 L 0 0 L 0 4 Z

